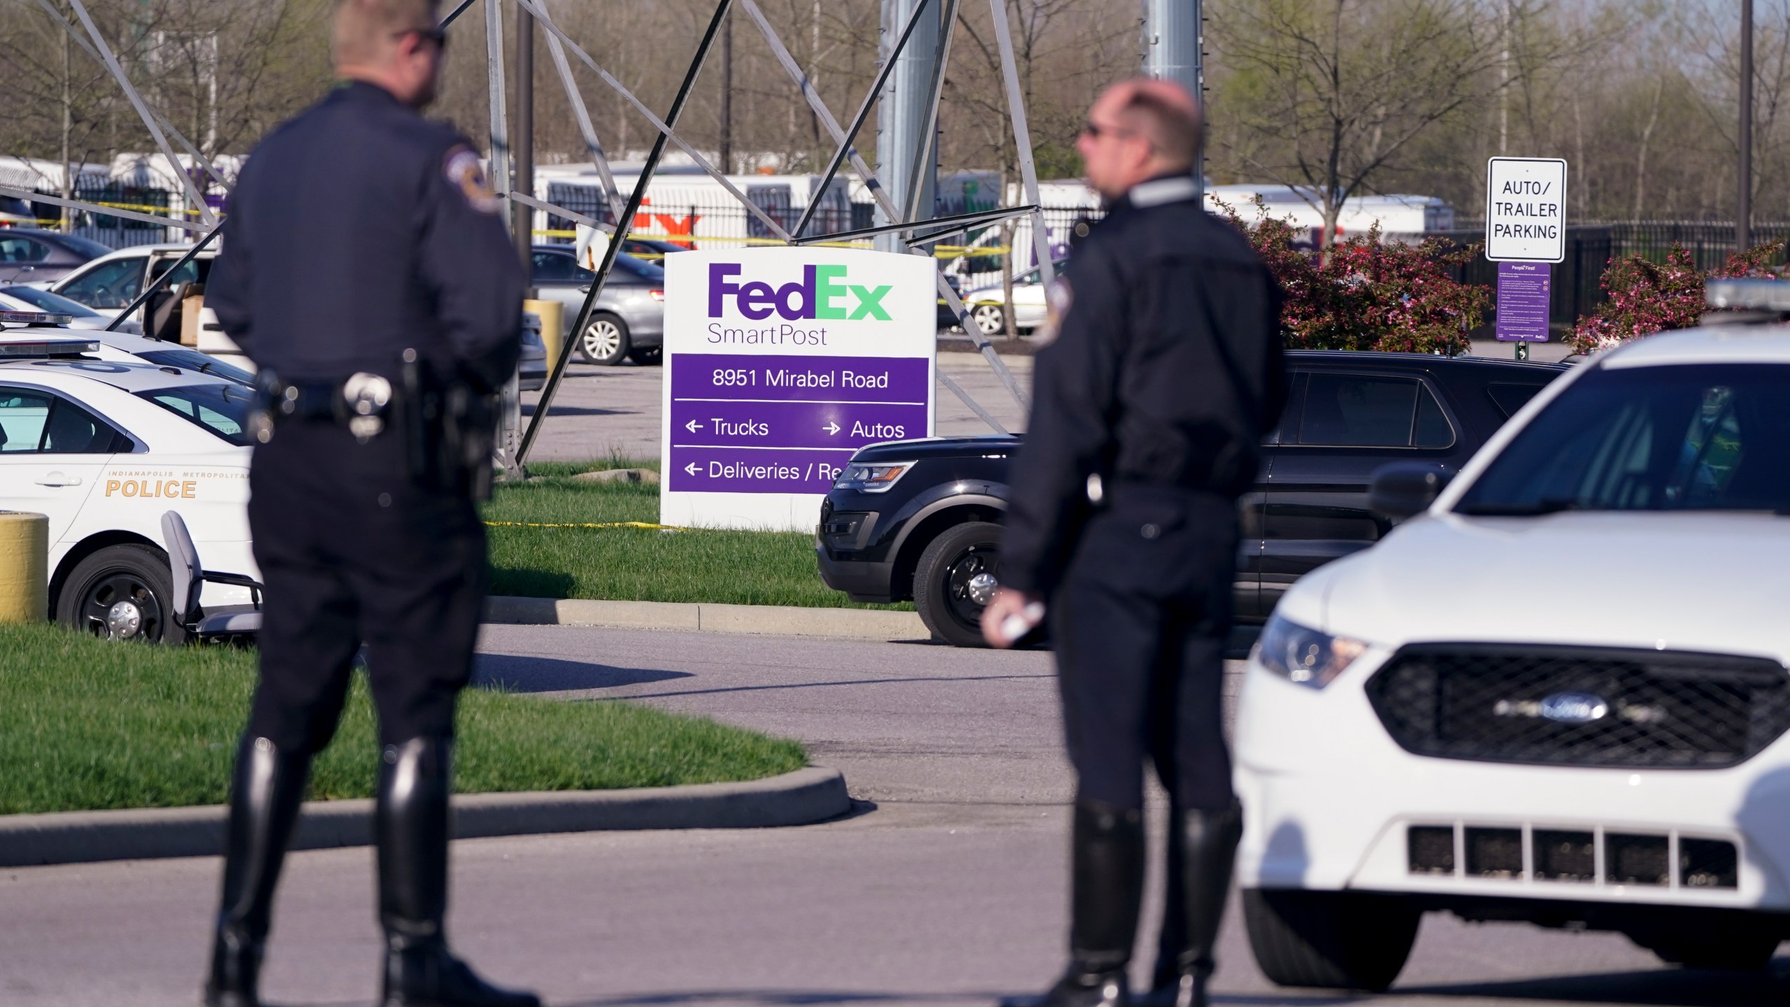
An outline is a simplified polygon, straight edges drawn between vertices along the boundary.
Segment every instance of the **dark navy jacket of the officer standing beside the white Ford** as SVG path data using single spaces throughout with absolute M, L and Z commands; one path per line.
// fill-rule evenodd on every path
M 1280 290 L 1190 177 L 1119 199 L 1051 306 L 1001 545 L 1001 582 L 1040 593 L 1061 581 L 1090 496 L 1115 484 L 1246 491 L 1285 398 Z

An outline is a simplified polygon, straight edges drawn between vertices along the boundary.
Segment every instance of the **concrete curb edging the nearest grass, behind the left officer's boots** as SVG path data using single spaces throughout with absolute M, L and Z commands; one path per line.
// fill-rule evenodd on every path
M 845 776 L 811 765 L 746 783 L 455 796 L 453 835 L 800 826 L 850 806 Z M 224 805 L 0 815 L 0 867 L 215 856 L 224 851 Z M 308 801 L 292 835 L 292 849 L 371 842 L 371 799 Z

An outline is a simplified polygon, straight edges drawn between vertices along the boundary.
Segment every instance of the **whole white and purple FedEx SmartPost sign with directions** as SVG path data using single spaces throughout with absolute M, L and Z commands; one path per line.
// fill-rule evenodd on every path
M 666 525 L 811 530 L 852 452 L 933 435 L 931 258 L 666 256 Z

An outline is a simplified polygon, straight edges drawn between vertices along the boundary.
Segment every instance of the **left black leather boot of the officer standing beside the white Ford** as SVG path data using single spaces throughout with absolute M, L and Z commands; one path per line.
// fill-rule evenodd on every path
M 1036 1007 L 1129 1007 L 1126 964 L 1144 899 L 1144 815 L 1078 801 L 1072 839 L 1069 969 Z

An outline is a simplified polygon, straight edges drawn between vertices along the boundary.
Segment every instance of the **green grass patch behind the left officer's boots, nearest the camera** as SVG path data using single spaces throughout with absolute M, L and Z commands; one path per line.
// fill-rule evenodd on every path
M 254 688 L 254 652 L 111 643 L 0 625 L 0 813 L 217 805 Z M 363 676 L 311 797 L 369 797 L 374 727 Z M 759 779 L 807 765 L 802 745 L 621 701 L 471 688 L 455 788 L 598 790 Z

